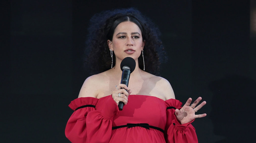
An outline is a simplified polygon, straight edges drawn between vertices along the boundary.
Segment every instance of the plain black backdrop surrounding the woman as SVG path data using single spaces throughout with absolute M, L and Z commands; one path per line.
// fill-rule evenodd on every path
M 255 1 L 1 2 L 0 142 L 69 142 L 68 104 L 89 76 L 82 54 L 89 19 L 135 7 L 158 25 L 168 62 L 161 76 L 176 99 L 201 96 L 199 142 L 255 135 Z M 146 60 L 146 59 L 145 59 Z

